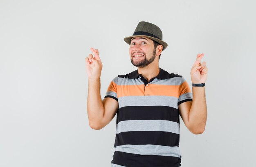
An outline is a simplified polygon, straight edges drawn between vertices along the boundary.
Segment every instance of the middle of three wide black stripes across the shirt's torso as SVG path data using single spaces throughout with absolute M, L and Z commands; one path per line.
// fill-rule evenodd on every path
M 115 145 L 179 146 L 180 135 L 167 131 L 126 131 L 116 134 Z

